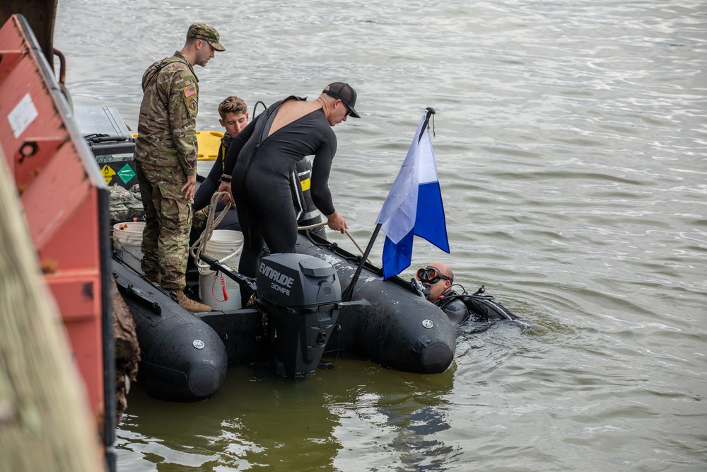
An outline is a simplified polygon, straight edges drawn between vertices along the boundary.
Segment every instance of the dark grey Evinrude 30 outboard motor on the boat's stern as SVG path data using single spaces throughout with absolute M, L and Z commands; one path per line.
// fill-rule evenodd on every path
M 337 270 L 312 255 L 273 254 L 260 259 L 257 287 L 276 331 L 276 373 L 314 374 L 341 307 Z

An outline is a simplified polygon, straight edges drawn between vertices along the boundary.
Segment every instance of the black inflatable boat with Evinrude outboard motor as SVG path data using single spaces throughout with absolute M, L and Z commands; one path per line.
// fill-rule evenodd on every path
M 353 300 L 341 301 L 360 258 L 303 231 L 296 254 L 262 258 L 257 280 L 211 259 L 217 270 L 252 284 L 254 297 L 238 309 L 189 313 L 117 251 L 112 272 L 142 350 L 139 384 L 156 398 L 199 401 L 218 391 L 229 363 L 271 362 L 277 374 L 298 378 L 314 374 L 325 352 L 343 350 L 391 369 L 445 372 L 454 327 L 409 282 L 380 280 L 366 264 Z

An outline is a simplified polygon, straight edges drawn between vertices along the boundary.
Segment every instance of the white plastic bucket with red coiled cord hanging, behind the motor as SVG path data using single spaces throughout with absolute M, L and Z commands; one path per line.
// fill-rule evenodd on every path
M 238 270 L 243 233 L 230 229 L 216 229 L 206 243 L 204 254 L 218 259 L 233 270 Z M 243 307 L 240 285 L 221 272 L 199 266 L 199 297 L 214 310 L 238 310 Z

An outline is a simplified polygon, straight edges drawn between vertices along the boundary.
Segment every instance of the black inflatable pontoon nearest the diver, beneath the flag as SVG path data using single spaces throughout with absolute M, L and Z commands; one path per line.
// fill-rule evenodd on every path
M 300 235 L 298 253 L 327 261 L 348 287 L 361 255 L 353 255 L 316 234 Z M 354 300 L 368 304 L 345 306 L 341 327 L 327 350 L 351 350 L 391 369 L 420 374 L 444 372 L 452 363 L 455 330 L 437 306 L 417 294 L 399 277 L 380 280 L 380 269 L 364 265 L 354 287 Z

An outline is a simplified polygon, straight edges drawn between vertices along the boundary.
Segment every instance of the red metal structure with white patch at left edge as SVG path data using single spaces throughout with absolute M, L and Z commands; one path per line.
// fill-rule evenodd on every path
M 0 97 L 0 146 L 86 382 L 91 410 L 103 425 L 109 468 L 113 468 L 108 189 L 21 15 L 11 16 L 0 29 Z

